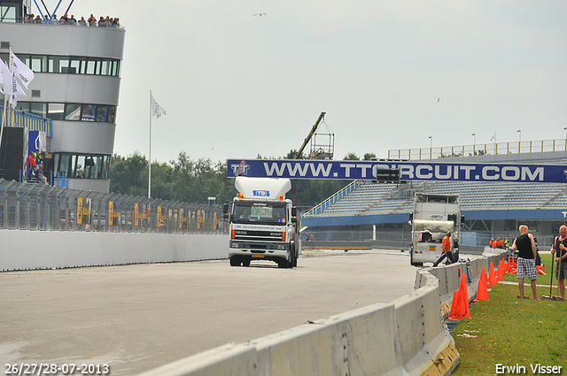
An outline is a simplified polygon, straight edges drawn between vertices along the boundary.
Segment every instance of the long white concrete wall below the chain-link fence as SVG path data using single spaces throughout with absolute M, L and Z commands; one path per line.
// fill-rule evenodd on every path
M 0 230 L 0 271 L 229 257 L 228 235 Z

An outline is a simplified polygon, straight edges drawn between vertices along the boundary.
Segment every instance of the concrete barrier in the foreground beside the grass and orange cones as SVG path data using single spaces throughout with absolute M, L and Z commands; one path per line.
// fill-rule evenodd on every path
M 460 356 L 442 322 L 441 297 L 452 299 L 459 276 L 466 275 L 473 299 L 481 268 L 486 270 L 491 261 L 498 265 L 501 258 L 501 253 L 489 254 L 467 263 L 421 268 L 416 290 L 392 303 L 227 344 L 139 376 L 447 375 Z

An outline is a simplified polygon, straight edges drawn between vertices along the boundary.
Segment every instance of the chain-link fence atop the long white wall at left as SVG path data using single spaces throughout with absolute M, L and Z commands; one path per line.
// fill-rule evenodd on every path
M 0 179 L 0 229 L 226 234 L 222 209 Z

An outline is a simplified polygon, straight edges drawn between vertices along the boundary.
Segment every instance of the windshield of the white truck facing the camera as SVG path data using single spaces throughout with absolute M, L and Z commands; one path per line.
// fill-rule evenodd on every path
M 284 203 L 235 203 L 233 222 L 282 225 L 286 223 Z

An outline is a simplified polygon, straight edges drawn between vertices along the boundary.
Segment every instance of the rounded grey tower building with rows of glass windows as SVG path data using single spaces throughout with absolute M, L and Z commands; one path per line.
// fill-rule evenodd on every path
M 65 173 L 69 188 L 108 192 L 125 30 L 23 22 L 38 12 L 32 4 L 0 3 L 0 58 L 7 63 L 12 47 L 35 72 L 17 110 L 52 120 L 46 174 Z

